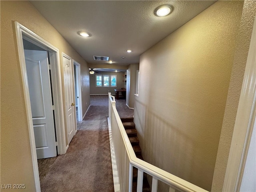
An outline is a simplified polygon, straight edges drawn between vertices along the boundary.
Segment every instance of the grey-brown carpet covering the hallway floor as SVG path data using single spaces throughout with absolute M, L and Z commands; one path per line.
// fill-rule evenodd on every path
M 90 103 L 84 120 L 78 122 L 78 132 L 67 153 L 38 160 L 39 170 L 44 170 L 40 174 L 42 192 L 114 191 L 107 123 L 108 96 L 91 96 Z M 116 108 L 121 117 L 133 116 L 125 100 L 117 100 Z

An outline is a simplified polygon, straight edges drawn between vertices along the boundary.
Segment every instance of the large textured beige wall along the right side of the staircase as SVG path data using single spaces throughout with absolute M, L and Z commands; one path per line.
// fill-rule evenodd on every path
M 212 185 L 242 6 L 242 1 L 218 1 L 140 57 L 134 122 L 142 156 L 206 190 Z

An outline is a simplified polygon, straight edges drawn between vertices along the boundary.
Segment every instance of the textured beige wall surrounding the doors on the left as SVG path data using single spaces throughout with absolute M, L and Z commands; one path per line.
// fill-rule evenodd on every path
M 86 62 L 28 1 L 1 1 L 1 184 L 25 184 L 35 191 L 24 92 L 14 22 L 29 28 L 81 64 L 83 113 L 90 103 Z M 61 67 L 60 66 L 60 67 Z M 62 77 L 63 78 L 63 77 Z M 24 191 L 24 190 L 8 190 Z

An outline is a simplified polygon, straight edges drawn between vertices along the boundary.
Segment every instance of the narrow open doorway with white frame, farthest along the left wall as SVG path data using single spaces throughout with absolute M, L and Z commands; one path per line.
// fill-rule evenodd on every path
M 74 92 L 76 104 L 76 121 L 82 121 L 82 89 L 81 89 L 81 68 L 80 64 L 73 59 L 74 64 Z

